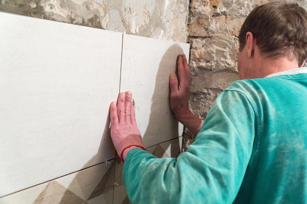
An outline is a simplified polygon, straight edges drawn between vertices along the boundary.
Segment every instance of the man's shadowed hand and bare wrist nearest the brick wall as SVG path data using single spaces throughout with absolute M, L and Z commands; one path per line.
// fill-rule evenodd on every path
M 184 54 L 177 58 L 177 73 L 170 74 L 170 106 L 171 110 L 192 134 L 197 135 L 204 121 L 189 109 L 190 69 Z

